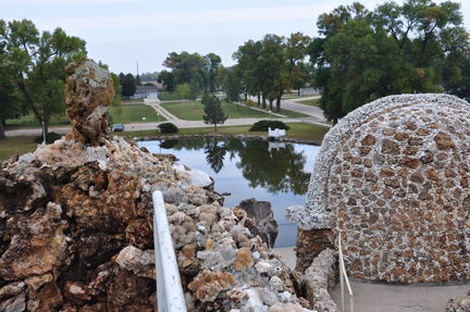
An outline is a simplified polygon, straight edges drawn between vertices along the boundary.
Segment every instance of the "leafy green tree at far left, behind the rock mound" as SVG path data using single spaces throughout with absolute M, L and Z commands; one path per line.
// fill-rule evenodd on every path
M 65 65 L 86 54 L 85 40 L 62 28 L 39 30 L 32 21 L 0 20 L 4 73 L 18 87 L 27 110 L 48 132 L 49 120 L 65 113 Z

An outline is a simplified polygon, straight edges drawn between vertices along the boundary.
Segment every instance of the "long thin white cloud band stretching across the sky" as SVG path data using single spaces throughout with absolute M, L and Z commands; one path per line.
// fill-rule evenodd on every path
M 329 5 L 235 9 L 124 16 L 52 17 L 34 18 L 34 22 L 41 29 L 52 29 L 55 28 L 58 25 L 69 30 L 114 29 L 128 27 L 157 27 L 230 22 L 243 23 L 317 18 L 319 12 L 324 12 L 325 8 L 329 8 Z

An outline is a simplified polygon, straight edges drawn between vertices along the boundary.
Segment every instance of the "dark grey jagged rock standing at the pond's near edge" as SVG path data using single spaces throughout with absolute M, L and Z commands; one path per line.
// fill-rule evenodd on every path
M 255 225 L 250 228 L 252 233 L 260 236 L 269 248 L 274 248 L 279 230 L 271 203 L 250 198 L 243 200 L 239 208 L 247 212 L 248 217 L 255 219 Z

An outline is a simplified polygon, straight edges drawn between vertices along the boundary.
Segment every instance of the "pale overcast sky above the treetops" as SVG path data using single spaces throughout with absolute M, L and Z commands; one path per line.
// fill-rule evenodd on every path
M 373 10 L 384 1 L 359 1 Z M 401 3 L 401 0 L 396 1 Z M 441 2 L 441 1 L 436 1 Z M 470 29 L 470 0 L 461 3 Z M 32 20 L 39 30 L 62 27 L 85 39 L 88 58 L 114 73 L 161 71 L 170 52 L 207 54 L 233 65 L 232 53 L 264 34 L 318 36 L 317 17 L 352 0 L 0 0 L 0 18 Z

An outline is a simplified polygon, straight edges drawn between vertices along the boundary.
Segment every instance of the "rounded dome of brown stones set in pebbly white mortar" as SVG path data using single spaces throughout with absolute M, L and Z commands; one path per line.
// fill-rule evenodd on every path
M 356 278 L 448 282 L 470 277 L 470 104 L 403 95 L 363 105 L 325 136 L 301 229 L 342 233 Z

